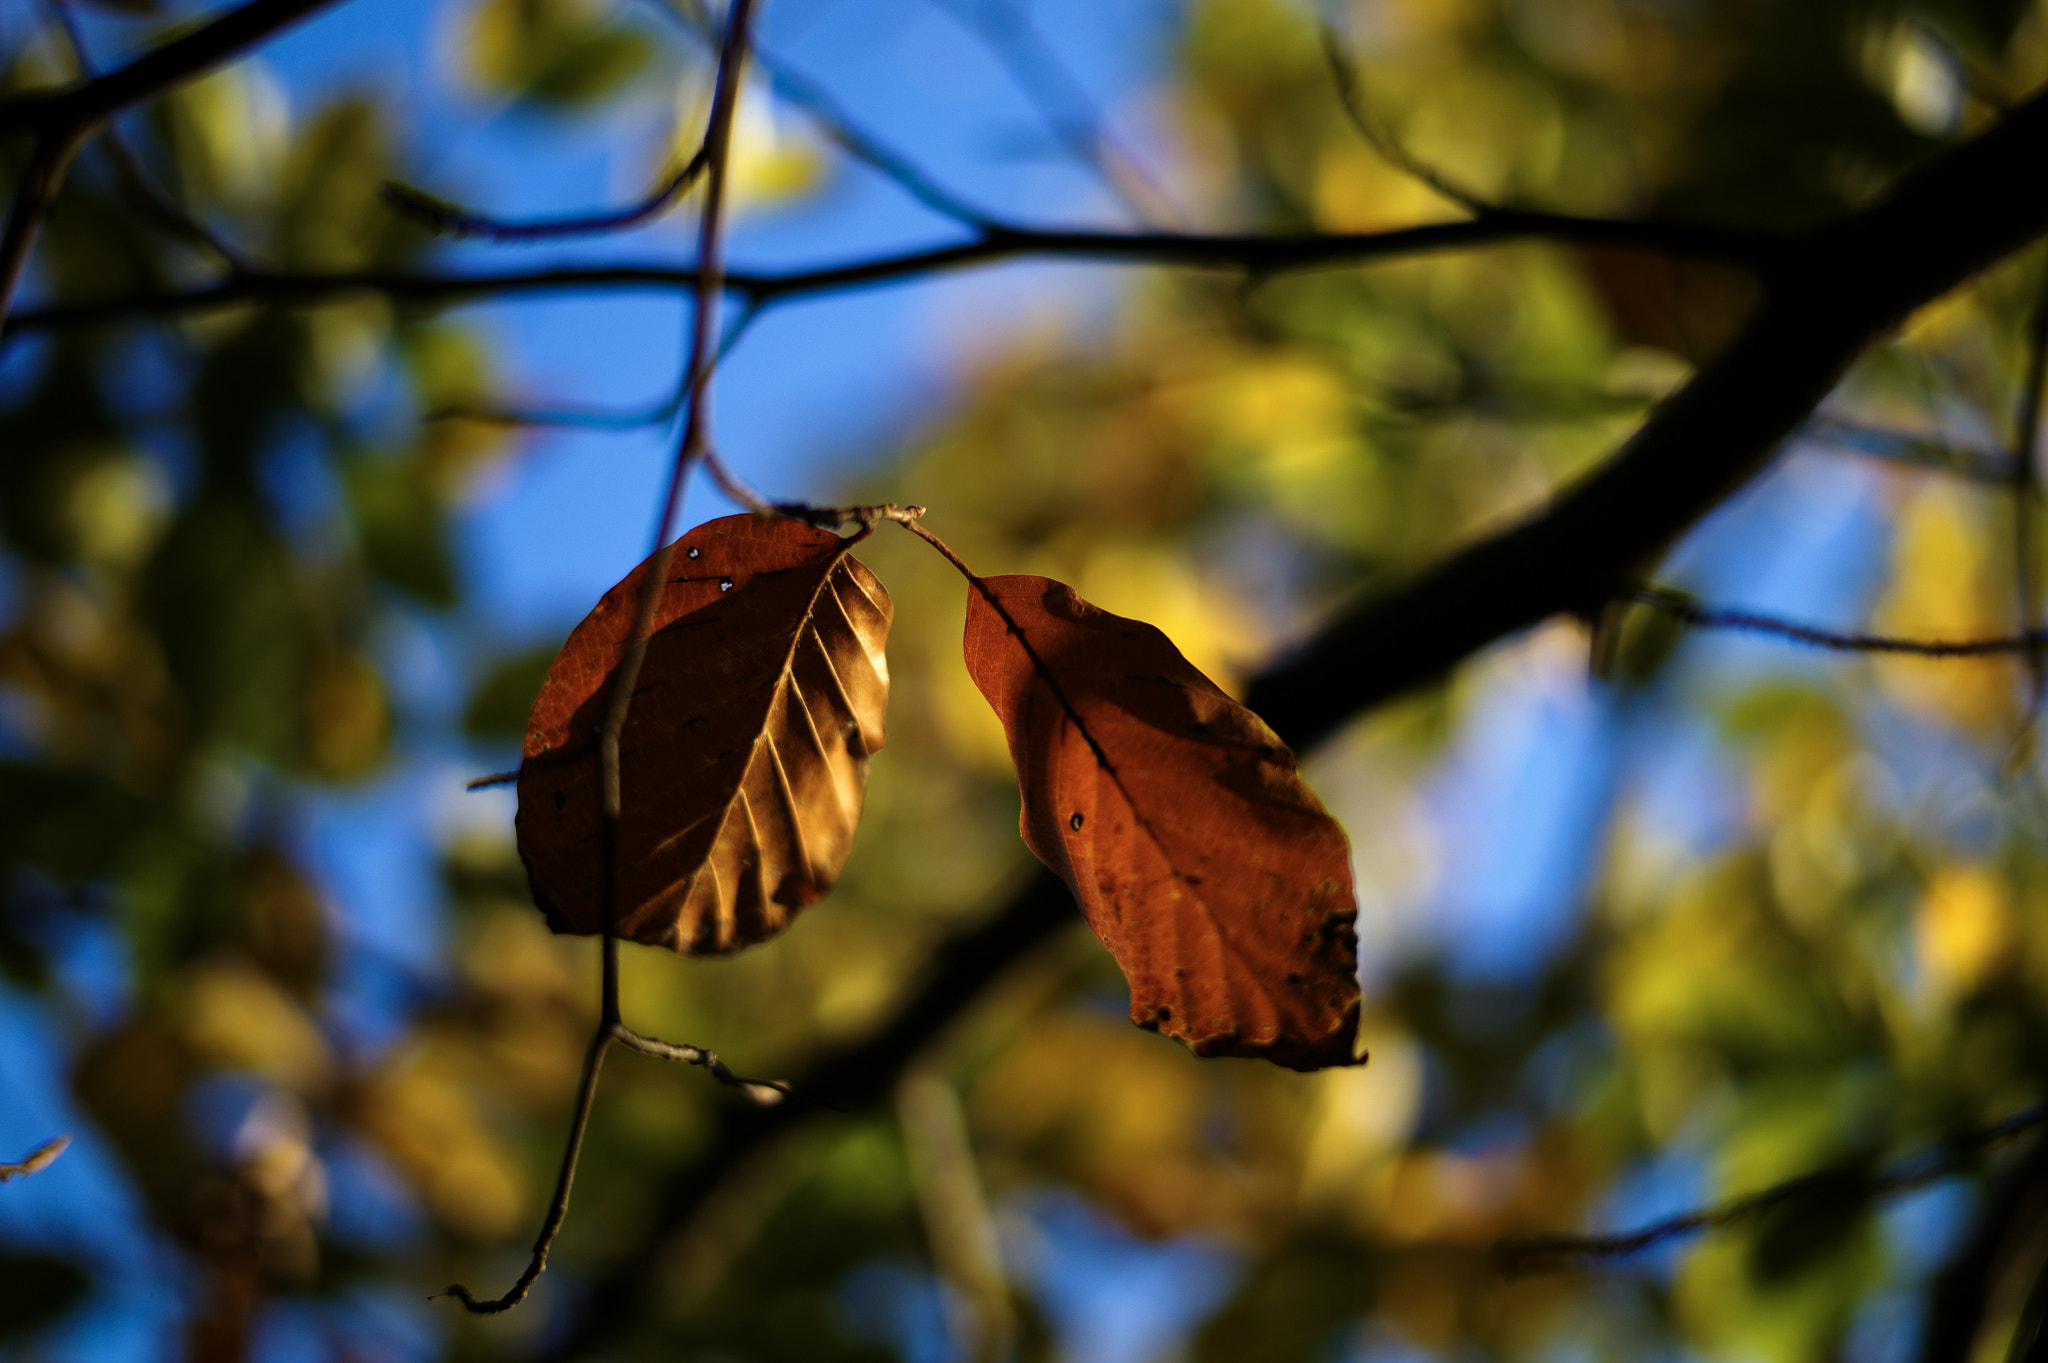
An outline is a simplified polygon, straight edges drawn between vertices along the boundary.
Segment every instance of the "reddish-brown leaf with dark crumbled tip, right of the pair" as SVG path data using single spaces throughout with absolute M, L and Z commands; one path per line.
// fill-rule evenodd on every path
M 1294 753 L 1165 634 L 1049 577 L 967 591 L 967 671 L 1010 735 L 1022 831 L 1198 1056 L 1352 1062 L 1350 843 Z

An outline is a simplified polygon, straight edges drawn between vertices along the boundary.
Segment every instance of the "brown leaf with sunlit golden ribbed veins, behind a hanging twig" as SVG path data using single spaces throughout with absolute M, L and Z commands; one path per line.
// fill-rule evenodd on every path
M 727 516 L 676 542 L 618 739 L 618 935 L 733 952 L 831 888 L 889 702 L 889 593 L 848 540 Z M 549 667 L 518 774 L 518 847 L 549 927 L 598 933 L 598 727 L 647 563 Z

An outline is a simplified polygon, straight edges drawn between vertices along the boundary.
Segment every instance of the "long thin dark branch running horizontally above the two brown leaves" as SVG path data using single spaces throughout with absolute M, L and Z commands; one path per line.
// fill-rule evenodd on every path
M 721 282 L 725 293 L 735 293 L 750 303 L 768 305 L 850 289 L 922 280 L 930 274 L 967 266 L 1030 258 L 1280 274 L 1434 252 L 1477 250 L 1511 241 L 1647 250 L 1747 266 L 1763 274 L 1776 274 L 1790 262 L 1794 250 L 1794 244 L 1784 237 L 1749 231 L 1501 209 L 1485 221 L 1473 223 L 1432 223 L 1397 231 L 1329 235 L 1124 233 L 991 225 L 973 241 L 782 274 L 731 270 Z M 401 270 L 303 274 L 262 270 L 201 289 L 141 293 L 35 309 L 10 317 L 6 334 L 104 325 L 129 317 L 180 317 L 236 303 L 309 305 L 365 293 L 383 295 L 397 303 L 449 305 L 473 299 L 547 293 L 694 293 L 696 287 L 696 270 L 666 264 L 555 266 L 545 270 L 475 274 L 412 274 Z

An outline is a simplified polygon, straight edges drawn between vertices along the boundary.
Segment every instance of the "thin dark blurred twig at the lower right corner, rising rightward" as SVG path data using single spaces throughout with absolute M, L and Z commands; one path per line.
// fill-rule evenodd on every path
M 1987 1150 L 2001 1146 L 2015 1136 L 2023 1136 L 2044 1122 L 2048 1122 L 2048 1107 L 2030 1107 L 2028 1111 L 2007 1117 L 2005 1122 L 1997 1122 L 1976 1132 L 1966 1132 L 1937 1150 L 1921 1152 L 1888 1169 L 1872 1171 L 1866 1164 L 1821 1169 L 1776 1187 L 1767 1187 L 1761 1193 L 1737 1197 L 1735 1201 L 1718 1207 L 1686 1212 L 1683 1216 L 1653 1222 L 1640 1230 L 1628 1230 L 1612 1236 L 1536 1236 L 1530 1240 L 1507 1240 L 1495 1246 L 1493 1255 L 1503 1273 L 1540 1273 L 1544 1269 L 1563 1269 L 1573 1263 L 1628 1259 L 1669 1240 L 1694 1236 L 1704 1230 L 1724 1230 L 1729 1226 L 1755 1220 L 1765 1212 L 1774 1212 L 1786 1203 L 1812 1197 L 1817 1193 L 1837 1193 L 1858 1199 L 1888 1197 L 1892 1193 L 1905 1193 L 1964 1173 Z

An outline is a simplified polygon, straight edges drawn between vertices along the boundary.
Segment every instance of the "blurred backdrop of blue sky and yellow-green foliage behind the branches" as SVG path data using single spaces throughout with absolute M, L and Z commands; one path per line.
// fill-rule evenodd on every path
M 74 18 L 109 65 L 201 12 Z M 279 268 L 684 262 L 688 205 L 494 248 L 379 186 L 635 199 L 696 141 L 700 20 L 352 0 L 121 135 Z M 965 235 L 834 117 L 1018 223 L 1460 217 L 1348 117 L 1323 25 L 1384 137 L 1479 196 L 1782 231 L 2048 78 L 2025 0 L 770 0 L 784 84 L 743 100 L 733 264 Z M 10 92 L 76 72 L 27 0 L 0 0 L 0 63 Z M 23 307 L 219 272 L 88 149 Z M 2025 252 L 1915 315 L 1659 579 L 1841 628 L 2015 628 L 2042 274 Z M 1235 688 L 1597 463 L 1753 299 L 1735 270 L 1542 244 L 1249 280 L 1018 262 L 762 313 L 717 432 L 774 495 L 924 503 L 977 569 L 1061 577 Z M 2005 1357 L 2038 1236 L 1985 1250 L 1966 1338 L 1927 1320 L 1987 1218 L 2042 1195 L 2023 1148 L 1628 1261 L 1491 1257 L 1937 1148 L 2048 1079 L 2023 663 L 1640 612 L 1602 677 L 1554 622 L 1305 755 L 1354 843 L 1368 1066 L 1135 1031 L 1075 921 L 895 1101 L 803 1122 L 688 1224 L 649 1189 L 735 1097 L 614 1058 L 535 1298 L 428 1302 L 524 1263 L 596 1009 L 510 794 L 463 786 L 516 761 L 547 659 L 645 553 L 686 321 L 657 291 L 352 297 L 0 352 L 0 1158 L 76 1138 L 0 1187 L 0 1353 L 565 1357 L 635 1257 L 653 1289 L 606 1308 L 604 1357 Z M 686 520 L 729 510 L 698 485 Z M 750 1074 L 879 1025 L 1030 876 L 958 579 L 893 530 L 862 559 L 897 602 L 895 704 L 844 884 L 731 960 L 627 950 L 629 1021 Z

